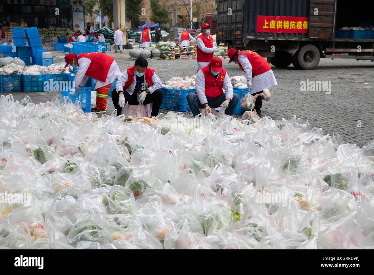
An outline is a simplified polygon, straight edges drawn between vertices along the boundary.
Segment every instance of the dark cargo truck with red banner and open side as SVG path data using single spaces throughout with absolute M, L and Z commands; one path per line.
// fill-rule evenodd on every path
M 374 1 L 218 0 L 217 43 L 258 52 L 277 67 L 312 70 L 320 58 L 374 61 Z

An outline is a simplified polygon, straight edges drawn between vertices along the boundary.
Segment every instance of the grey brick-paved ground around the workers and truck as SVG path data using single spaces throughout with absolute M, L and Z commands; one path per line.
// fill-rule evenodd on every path
M 116 58 L 121 70 L 134 64 L 128 50 L 123 54 L 107 52 Z M 54 61 L 63 61 L 62 52 L 53 52 Z M 58 58 L 57 56 L 61 56 Z M 156 70 L 162 81 L 173 76 L 192 76 L 196 74 L 196 59 L 149 60 L 149 66 Z M 235 64 L 223 59 L 223 66 L 229 76 L 243 72 Z M 272 99 L 263 102 L 261 113 L 273 118 L 298 118 L 309 120 L 312 127 L 324 129 L 326 134 L 337 132 L 347 143 L 363 146 L 374 140 L 374 63 L 352 59 L 321 59 L 312 71 L 301 71 L 292 65 L 288 68 L 273 67 L 278 85 L 270 89 Z M 327 81 L 331 83 L 329 92 L 300 91 L 301 82 Z M 5 94 L 5 93 L 4 93 Z M 20 100 L 26 93 L 13 93 Z M 50 100 L 57 93 L 27 93 L 33 102 Z M 113 111 L 108 99 L 107 114 Z M 166 112 L 166 110 L 162 110 Z M 191 112 L 186 112 L 191 116 Z M 238 116 L 239 117 L 239 116 Z M 360 126 L 360 127 L 359 127 Z

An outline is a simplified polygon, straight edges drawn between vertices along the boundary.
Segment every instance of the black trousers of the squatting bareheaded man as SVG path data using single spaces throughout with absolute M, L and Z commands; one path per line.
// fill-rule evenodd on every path
M 125 95 L 125 101 L 128 102 L 129 105 L 139 104 L 136 92 L 133 92 L 132 95 L 130 95 L 127 91 L 123 91 L 123 95 Z M 119 99 L 119 95 L 117 91 L 114 89 L 112 91 L 112 100 L 113 100 L 114 109 L 117 110 L 117 116 L 119 116 L 122 112 L 122 107 L 119 107 L 118 105 L 118 99 Z M 145 97 L 145 100 L 143 101 L 143 104 L 147 105 L 149 103 L 153 103 L 151 116 L 157 116 L 159 114 L 160 106 L 162 103 L 162 91 L 155 90 L 152 94 L 147 94 L 147 96 Z

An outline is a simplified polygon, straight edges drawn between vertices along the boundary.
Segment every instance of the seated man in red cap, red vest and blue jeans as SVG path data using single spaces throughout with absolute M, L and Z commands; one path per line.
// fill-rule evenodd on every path
M 211 108 L 224 107 L 225 113 L 232 116 L 239 101 L 239 96 L 234 94 L 229 74 L 222 68 L 222 60 L 213 57 L 205 67 L 197 70 L 196 73 L 196 94 L 187 95 L 188 106 L 193 116 L 200 113 L 199 109 L 205 109 L 204 115 L 211 113 Z M 226 94 L 223 94 L 222 88 Z

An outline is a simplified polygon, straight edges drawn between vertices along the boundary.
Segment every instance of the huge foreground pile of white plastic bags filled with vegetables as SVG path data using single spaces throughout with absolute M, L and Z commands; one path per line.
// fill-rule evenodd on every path
M 0 98 L 1 248 L 374 248 L 374 141 Z

